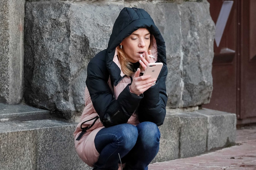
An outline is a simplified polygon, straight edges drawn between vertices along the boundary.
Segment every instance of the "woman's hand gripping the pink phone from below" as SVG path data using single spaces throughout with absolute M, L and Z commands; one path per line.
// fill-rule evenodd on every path
M 156 79 L 151 79 L 151 75 L 139 75 L 140 68 L 138 68 L 137 71 L 135 72 L 135 75 L 132 79 L 132 84 L 130 86 L 130 92 L 136 95 L 144 93 L 144 91 L 148 90 L 157 81 Z

